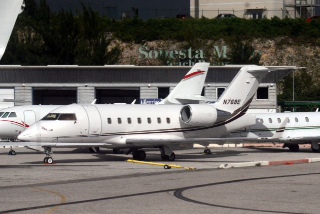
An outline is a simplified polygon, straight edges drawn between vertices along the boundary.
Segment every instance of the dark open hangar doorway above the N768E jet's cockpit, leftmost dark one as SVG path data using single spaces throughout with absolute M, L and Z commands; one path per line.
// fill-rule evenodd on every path
M 67 105 L 76 103 L 76 88 L 33 88 L 34 105 Z

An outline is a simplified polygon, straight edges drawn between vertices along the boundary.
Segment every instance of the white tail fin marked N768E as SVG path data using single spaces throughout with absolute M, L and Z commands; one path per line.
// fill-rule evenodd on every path
M 214 107 L 231 114 L 247 109 L 261 80 L 271 70 L 256 65 L 242 67 L 213 104 Z

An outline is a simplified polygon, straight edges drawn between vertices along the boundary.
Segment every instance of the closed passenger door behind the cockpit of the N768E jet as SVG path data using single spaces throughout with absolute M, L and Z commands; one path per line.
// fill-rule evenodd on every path
M 83 106 L 89 119 L 89 135 L 99 136 L 101 134 L 101 117 L 100 113 L 94 105 Z

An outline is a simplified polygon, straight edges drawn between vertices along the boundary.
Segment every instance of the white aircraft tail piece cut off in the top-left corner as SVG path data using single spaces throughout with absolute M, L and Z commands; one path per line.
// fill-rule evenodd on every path
M 23 11 L 23 0 L 0 1 L 0 59 L 8 44 L 17 16 Z

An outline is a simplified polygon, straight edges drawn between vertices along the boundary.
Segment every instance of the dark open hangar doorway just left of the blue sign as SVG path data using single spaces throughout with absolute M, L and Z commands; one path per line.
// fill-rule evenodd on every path
M 132 103 L 140 100 L 139 88 L 95 88 L 95 99 L 97 104 L 109 103 Z

